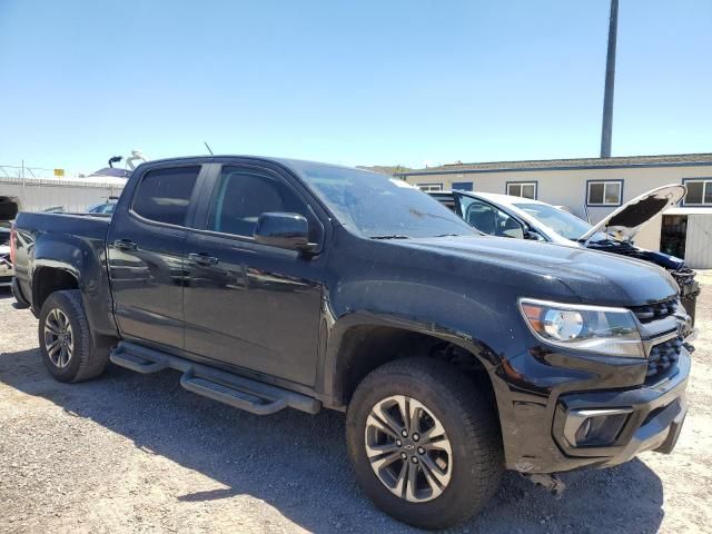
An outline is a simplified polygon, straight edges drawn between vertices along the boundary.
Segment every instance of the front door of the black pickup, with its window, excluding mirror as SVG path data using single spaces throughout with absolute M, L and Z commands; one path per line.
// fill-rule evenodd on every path
M 314 385 L 324 257 L 254 239 L 267 211 L 304 215 L 320 239 L 305 196 L 277 171 L 226 165 L 205 211 L 187 245 L 186 350 Z

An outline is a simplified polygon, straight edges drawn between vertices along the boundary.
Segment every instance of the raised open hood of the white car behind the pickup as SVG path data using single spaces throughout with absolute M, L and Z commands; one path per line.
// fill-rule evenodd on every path
M 604 217 L 578 240 L 586 246 L 595 234 L 609 231 L 623 241 L 630 241 L 653 217 L 678 204 L 686 192 L 688 188 L 680 184 L 651 189 Z

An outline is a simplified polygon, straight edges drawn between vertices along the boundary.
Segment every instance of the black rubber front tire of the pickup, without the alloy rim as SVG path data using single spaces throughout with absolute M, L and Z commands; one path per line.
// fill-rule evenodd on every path
M 408 502 L 376 476 L 366 454 L 366 422 L 383 399 L 405 395 L 427 407 L 452 445 L 452 475 L 439 496 Z M 346 416 L 348 454 L 356 479 L 374 503 L 419 528 L 445 528 L 466 521 L 496 492 L 504 472 L 502 437 L 494 406 L 455 367 L 427 358 L 390 362 L 358 386 Z

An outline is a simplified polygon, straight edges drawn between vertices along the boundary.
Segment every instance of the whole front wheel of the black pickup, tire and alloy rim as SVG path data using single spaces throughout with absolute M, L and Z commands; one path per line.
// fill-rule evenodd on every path
M 369 374 L 347 413 L 348 453 L 368 496 L 394 517 L 444 528 L 476 513 L 504 471 L 494 407 L 456 368 L 425 359 Z

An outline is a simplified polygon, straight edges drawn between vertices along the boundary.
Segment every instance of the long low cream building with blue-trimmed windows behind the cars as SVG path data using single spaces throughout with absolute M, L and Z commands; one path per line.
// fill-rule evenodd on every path
M 712 268 L 712 154 L 455 164 L 398 172 L 424 190 L 466 189 L 535 198 L 591 222 L 657 186 L 684 184 L 688 196 L 649 224 L 640 247 Z

